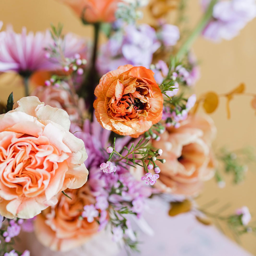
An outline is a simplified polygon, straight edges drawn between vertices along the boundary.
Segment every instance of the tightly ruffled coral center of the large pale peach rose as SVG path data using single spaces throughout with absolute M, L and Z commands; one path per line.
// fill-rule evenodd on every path
M 35 197 L 54 176 L 59 152 L 45 136 L 16 136 L 0 141 L 0 188 L 18 196 Z

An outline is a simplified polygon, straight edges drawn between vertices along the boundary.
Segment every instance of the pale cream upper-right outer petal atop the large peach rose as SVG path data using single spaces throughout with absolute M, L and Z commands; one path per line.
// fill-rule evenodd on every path
M 49 105 L 42 106 L 35 111 L 38 120 L 50 120 L 61 125 L 67 131 L 70 128 L 68 113 L 63 109 L 53 108 Z

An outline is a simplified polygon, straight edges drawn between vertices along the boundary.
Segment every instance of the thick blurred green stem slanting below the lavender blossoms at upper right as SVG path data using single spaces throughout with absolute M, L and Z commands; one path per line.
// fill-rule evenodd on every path
M 206 10 L 204 16 L 201 18 L 200 22 L 196 26 L 196 28 L 192 31 L 189 35 L 188 39 L 184 42 L 184 44 L 180 47 L 179 51 L 177 52 L 177 59 L 182 59 L 183 56 L 188 52 L 190 47 L 193 45 L 196 38 L 202 33 L 204 28 L 209 23 L 210 19 L 212 18 L 212 11 L 214 5 L 218 2 L 218 0 L 212 0 Z

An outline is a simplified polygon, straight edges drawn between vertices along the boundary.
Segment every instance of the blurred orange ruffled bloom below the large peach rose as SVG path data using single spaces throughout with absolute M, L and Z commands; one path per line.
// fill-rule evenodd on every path
M 58 203 L 48 207 L 36 217 L 35 233 L 37 239 L 53 251 L 69 251 L 84 244 L 98 232 L 99 224 L 93 220 L 89 223 L 81 218 L 85 205 L 95 203 L 87 185 L 78 189 L 66 189 L 58 194 Z

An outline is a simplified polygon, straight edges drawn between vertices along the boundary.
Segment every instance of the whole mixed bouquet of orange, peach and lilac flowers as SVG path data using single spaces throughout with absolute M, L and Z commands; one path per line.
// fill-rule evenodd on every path
M 93 40 L 64 34 L 61 24 L 0 32 L 0 72 L 18 73 L 25 94 L 1 102 L 0 256 L 140 251 L 143 234 L 154 233 L 145 220 L 152 202 L 167 204 L 169 218 L 190 212 L 236 235 L 256 232 L 247 207 L 223 216 L 195 202 L 206 180 L 224 186 L 224 170 L 238 183 L 254 158 L 214 150 L 209 114 L 225 97 L 229 117 L 245 86 L 196 97 L 191 50 L 200 35 L 235 37 L 256 16 L 255 0 L 204 0 L 189 33 L 184 0 L 58 2 L 93 27 Z M 153 25 L 141 22 L 144 10 Z

